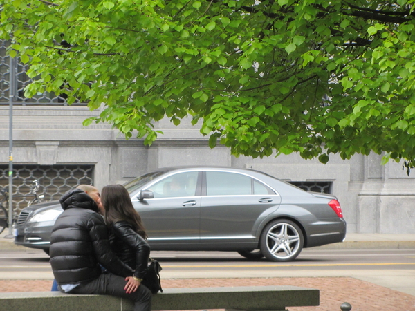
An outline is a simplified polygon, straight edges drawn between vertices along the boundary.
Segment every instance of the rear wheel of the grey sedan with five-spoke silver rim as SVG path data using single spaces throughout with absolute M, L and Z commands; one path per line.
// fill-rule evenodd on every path
M 302 251 L 304 236 L 293 221 L 279 219 L 266 225 L 259 245 L 270 261 L 293 261 Z

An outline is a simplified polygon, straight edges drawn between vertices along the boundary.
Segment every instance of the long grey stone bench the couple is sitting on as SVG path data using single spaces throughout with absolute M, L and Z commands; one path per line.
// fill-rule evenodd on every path
M 320 304 L 320 291 L 295 286 L 166 288 L 153 296 L 151 310 L 273 310 Z M 133 303 L 104 295 L 61 292 L 0 293 L 0 311 L 131 311 Z

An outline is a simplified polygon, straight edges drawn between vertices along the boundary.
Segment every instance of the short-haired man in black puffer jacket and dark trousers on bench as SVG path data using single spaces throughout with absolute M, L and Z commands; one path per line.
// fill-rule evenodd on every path
M 151 292 L 139 286 L 133 270 L 111 251 L 107 226 L 98 214 L 98 189 L 89 187 L 89 194 L 71 189 L 59 199 L 64 212 L 50 236 L 50 265 L 59 290 L 119 296 L 133 300 L 135 311 L 150 311 Z

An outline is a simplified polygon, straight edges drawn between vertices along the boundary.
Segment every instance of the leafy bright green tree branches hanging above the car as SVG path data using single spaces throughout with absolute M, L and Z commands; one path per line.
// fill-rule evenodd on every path
M 415 0 L 2 0 L 26 95 L 88 101 L 150 144 L 187 115 L 232 154 L 415 164 Z M 134 133 L 134 134 L 133 134 Z

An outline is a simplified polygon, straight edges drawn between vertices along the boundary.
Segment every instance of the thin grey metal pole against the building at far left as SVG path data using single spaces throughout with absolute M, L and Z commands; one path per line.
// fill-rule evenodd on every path
M 9 73 L 9 234 L 5 238 L 13 238 L 13 93 L 15 79 L 15 63 L 10 57 Z

